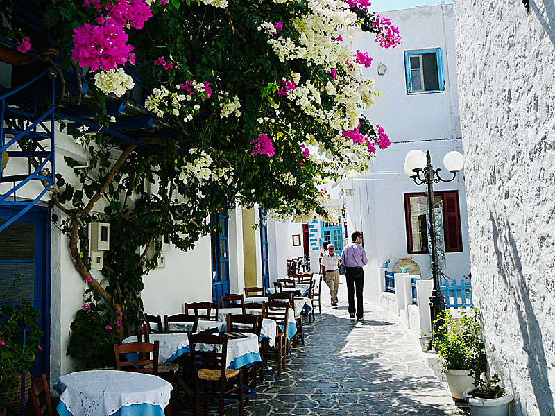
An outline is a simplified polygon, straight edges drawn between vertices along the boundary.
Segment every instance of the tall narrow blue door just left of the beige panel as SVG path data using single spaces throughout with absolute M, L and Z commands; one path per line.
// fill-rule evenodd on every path
M 212 233 L 212 302 L 220 304 L 220 297 L 230 293 L 228 213 L 213 215 L 211 220 L 218 221 L 221 228 Z

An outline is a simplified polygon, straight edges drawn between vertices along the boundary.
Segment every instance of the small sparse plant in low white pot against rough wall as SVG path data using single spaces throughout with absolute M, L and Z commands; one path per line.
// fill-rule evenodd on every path
M 513 395 L 499 386 L 499 376 L 478 373 L 472 370 L 474 385 L 464 391 L 463 398 L 468 402 L 472 416 L 509 416 Z

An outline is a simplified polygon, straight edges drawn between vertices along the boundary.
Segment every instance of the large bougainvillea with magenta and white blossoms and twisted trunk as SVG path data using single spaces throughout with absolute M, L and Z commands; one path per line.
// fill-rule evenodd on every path
M 8 4 L 17 1 L 0 1 L 3 16 Z M 51 201 L 64 213 L 71 256 L 94 292 L 94 306 L 79 311 L 83 320 L 71 331 L 69 350 L 85 362 L 79 354 L 90 328 L 110 332 L 103 342 L 111 343 L 142 318 L 142 277 L 158 258 L 145 248 L 158 248 L 160 236 L 188 250 L 218 229 L 211 214 L 239 204 L 264 205 L 280 219 L 336 217 L 320 184 L 364 171 L 389 144 L 384 128 L 364 116 L 379 95 L 364 76 L 372 58 L 344 41 L 366 31 L 384 48 L 400 42 L 398 28 L 369 12 L 369 1 L 44 5 L 62 67 L 88 69 L 84 105 L 99 125 L 69 129 L 90 155 L 89 167 L 75 169 L 75 183 L 58 177 Z M 22 43 L 24 34 L 12 29 Z M 33 51 L 34 43 L 31 37 L 22 47 Z M 130 80 L 134 73 L 140 81 Z M 116 121 L 106 105 L 115 99 L 153 116 L 153 127 L 134 136 L 148 147 L 116 148 L 103 133 Z M 155 186 L 146 191 L 146 184 Z M 95 214 L 99 201 L 103 211 Z M 79 248 L 87 242 L 79 224 L 98 218 L 113 230 L 106 285 L 92 277 L 87 250 Z

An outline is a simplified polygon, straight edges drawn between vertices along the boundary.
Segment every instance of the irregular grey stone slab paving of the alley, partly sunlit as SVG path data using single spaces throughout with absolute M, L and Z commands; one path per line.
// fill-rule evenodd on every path
M 341 277 L 339 308 L 323 295 L 322 315 L 305 324 L 305 346 L 293 348 L 281 376 L 258 385 L 245 415 L 468 415 L 454 406 L 400 319 L 366 303 L 365 322 L 351 320 L 346 291 Z

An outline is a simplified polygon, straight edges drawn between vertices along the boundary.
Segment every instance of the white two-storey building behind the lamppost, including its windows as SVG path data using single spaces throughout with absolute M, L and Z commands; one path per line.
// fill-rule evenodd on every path
M 429 150 L 434 168 L 442 168 L 441 176 L 450 179 L 443 157 L 462 150 L 453 6 L 418 6 L 381 15 L 399 26 L 402 43 L 380 49 L 372 37 L 359 34 L 352 50 L 368 51 L 373 58 L 366 75 L 382 94 L 370 108 L 370 119 L 385 128 L 391 146 L 377 150 L 370 171 L 342 184 L 347 234 L 355 229 L 364 234 L 365 292 L 372 300 L 379 296 L 379 268 L 386 259 L 391 259 L 391 268 L 399 258 L 412 257 L 422 278 L 431 278 L 426 189 L 404 173 L 405 155 L 412 149 Z M 453 182 L 434 184 L 434 192 L 445 225 L 442 271 L 458 280 L 470 272 L 463 172 Z

